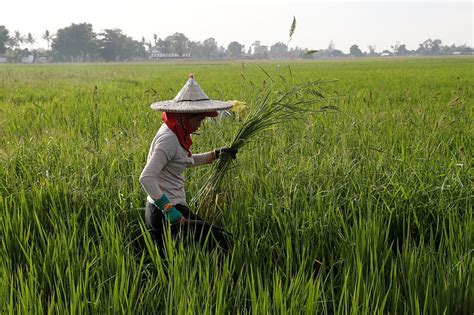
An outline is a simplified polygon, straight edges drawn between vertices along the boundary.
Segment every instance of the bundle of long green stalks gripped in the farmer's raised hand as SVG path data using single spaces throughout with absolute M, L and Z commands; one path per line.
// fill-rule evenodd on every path
M 318 87 L 332 81 L 313 81 L 295 85 L 288 89 L 275 91 L 275 81 L 267 84 L 257 97 L 250 102 L 248 113 L 237 131 L 230 147 L 239 151 L 249 141 L 264 130 L 289 120 L 300 119 L 308 113 L 318 113 L 336 109 L 334 106 L 324 106 L 317 110 L 312 105 L 324 100 Z M 232 159 L 223 156 L 212 164 L 210 176 L 191 200 L 194 209 L 206 217 L 212 217 L 217 206 L 217 195 L 228 170 L 232 167 Z

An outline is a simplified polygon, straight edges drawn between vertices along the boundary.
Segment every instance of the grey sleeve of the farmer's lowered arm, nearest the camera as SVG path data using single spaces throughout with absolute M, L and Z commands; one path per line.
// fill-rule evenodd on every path
M 174 151 L 174 152 L 173 152 Z M 176 150 L 169 141 L 157 142 L 153 148 L 152 154 L 149 157 L 142 173 L 140 174 L 140 184 L 145 192 L 153 200 L 160 199 L 163 195 L 160 185 L 158 183 L 158 174 L 163 167 L 171 161 Z

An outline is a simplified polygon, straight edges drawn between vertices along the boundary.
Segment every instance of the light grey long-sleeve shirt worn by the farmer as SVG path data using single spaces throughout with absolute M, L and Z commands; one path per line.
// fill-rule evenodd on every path
M 161 125 L 153 138 L 147 163 L 140 174 L 140 183 L 148 194 L 147 200 L 153 203 L 165 194 L 172 204 L 187 205 L 184 170 L 213 160 L 212 151 L 189 157 L 174 132 L 166 124 Z

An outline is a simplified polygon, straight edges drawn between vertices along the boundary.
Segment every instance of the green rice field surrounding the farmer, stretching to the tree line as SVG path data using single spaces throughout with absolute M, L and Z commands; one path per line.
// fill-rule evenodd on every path
M 336 79 L 313 107 L 338 110 L 239 151 L 209 217 L 229 253 L 169 237 L 161 257 L 138 181 L 149 105 L 191 72 L 248 107 L 269 77 Z M 472 314 L 473 73 L 472 57 L 0 65 L 0 313 Z M 206 121 L 193 152 L 241 122 Z M 188 200 L 209 169 L 186 171 Z

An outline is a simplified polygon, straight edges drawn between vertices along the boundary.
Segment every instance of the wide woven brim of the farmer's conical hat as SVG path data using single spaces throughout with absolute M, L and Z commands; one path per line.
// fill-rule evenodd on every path
M 183 101 L 174 100 L 156 102 L 150 105 L 151 109 L 168 113 L 205 113 L 218 110 L 226 110 L 233 106 L 232 102 L 223 102 L 215 100 L 203 101 Z

